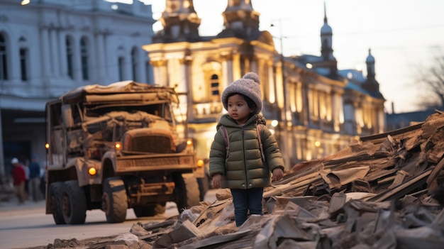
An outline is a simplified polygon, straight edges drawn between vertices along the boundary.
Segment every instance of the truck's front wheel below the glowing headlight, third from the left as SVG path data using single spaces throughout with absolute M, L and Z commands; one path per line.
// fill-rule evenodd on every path
M 101 197 L 101 209 L 106 214 L 108 223 L 121 223 L 126 219 L 128 199 L 125 184 L 120 178 L 105 179 L 104 193 Z

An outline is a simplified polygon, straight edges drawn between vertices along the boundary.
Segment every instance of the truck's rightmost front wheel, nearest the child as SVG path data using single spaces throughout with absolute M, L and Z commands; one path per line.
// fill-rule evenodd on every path
M 182 213 L 185 209 L 199 205 L 199 184 L 193 174 L 174 176 L 174 196 L 176 197 L 177 210 Z

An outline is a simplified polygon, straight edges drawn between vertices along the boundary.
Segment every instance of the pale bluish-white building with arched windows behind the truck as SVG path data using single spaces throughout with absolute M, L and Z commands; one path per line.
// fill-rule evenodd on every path
M 20 2 L 0 1 L 0 175 L 4 165 L 9 172 L 12 157 L 23 162 L 35 153 L 44 166 L 44 111 L 50 99 L 85 84 L 152 82 L 142 49 L 154 34 L 151 6 Z

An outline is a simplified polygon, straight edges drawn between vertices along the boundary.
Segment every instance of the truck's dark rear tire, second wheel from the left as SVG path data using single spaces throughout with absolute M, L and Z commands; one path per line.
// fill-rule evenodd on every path
M 66 181 L 62 191 L 62 214 L 67 224 L 83 224 L 87 218 L 87 197 L 77 180 Z

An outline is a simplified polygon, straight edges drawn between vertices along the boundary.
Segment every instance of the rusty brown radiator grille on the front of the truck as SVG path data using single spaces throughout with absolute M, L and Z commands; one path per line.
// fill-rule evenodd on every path
M 165 136 L 132 138 L 129 149 L 143 153 L 172 153 L 171 140 Z

